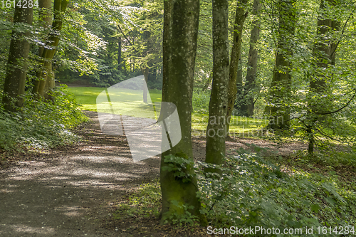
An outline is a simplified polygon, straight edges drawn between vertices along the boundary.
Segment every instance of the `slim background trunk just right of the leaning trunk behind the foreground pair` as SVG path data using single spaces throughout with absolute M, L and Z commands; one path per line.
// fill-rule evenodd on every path
M 244 110 L 241 111 L 242 114 L 247 117 L 253 116 L 254 109 L 254 99 L 252 91 L 256 88 L 256 75 L 257 75 L 257 61 L 258 61 L 258 50 L 257 50 L 257 41 L 260 36 L 260 14 L 261 4 L 260 0 L 253 0 L 253 21 L 252 21 L 252 31 L 250 37 L 250 50 L 248 52 L 248 63 L 247 63 L 247 74 L 246 74 L 246 85 L 244 90 L 244 98 L 246 100 L 246 106 Z

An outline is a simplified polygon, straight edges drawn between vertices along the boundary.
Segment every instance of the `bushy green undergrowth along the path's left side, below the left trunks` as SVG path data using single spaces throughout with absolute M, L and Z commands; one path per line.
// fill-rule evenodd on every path
M 0 149 L 51 148 L 78 141 L 70 129 L 87 120 L 66 86 L 53 91 L 54 102 L 25 98 L 20 112 L 0 107 Z

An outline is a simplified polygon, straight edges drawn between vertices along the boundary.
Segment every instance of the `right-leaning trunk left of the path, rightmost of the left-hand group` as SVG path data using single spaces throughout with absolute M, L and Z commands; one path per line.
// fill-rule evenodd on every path
M 53 56 L 56 53 L 56 48 L 60 39 L 60 32 L 63 25 L 63 14 L 68 6 L 68 0 L 55 0 L 53 5 L 53 24 L 51 33 L 48 36 L 48 41 L 46 42 L 46 48 L 42 52 L 43 58 L 43 70 L 37 75 L 36 83 L 33 87 L 33 93 L 37 94 L 38 97 L 44 98 L 48 90 L 46 90 L 46 85 L 54 85 L 54 83 L 48 82 L 47 80 L 54 80 L 53 74 L 51 73 Z

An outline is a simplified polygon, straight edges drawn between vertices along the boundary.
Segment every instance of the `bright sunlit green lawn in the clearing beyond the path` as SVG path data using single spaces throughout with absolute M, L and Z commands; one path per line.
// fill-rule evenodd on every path
M 70 91 L 75 95 L 77 102 L 81 105 L 83 110 L 97 111 L 96 98 L 100 93 L 105 90 L 105 88 L 93 88 L 93 87 L 73 87 L 69 88 Z M 115 102 L 112 100 L 112 107 L 120 108 L 120 111 L 124 111 L 126 115 L 130 115 L 130 111 L 137 111 L 140 107 L 140 111 L 147 112 L 148 109 L 152 107 L 145 107 L 142 101 L 137 102 L 124 102 L 123 97 L 129 99 L 135 95 L 135 91 L 127 89 L 125 93 L 119 95 L 110 94 L 110 98 L 120 98 L 122 102 Z M 115 97 L 117 96 L 117 97 Z M 162 90 L 150 90 L 150 96 L 152 102 L 162 101 Z M 159 106 L 155 106 L 156 118 L 159 115 Z M 137 113 L 137 112 L 136 112 Z M 132 116 L 135 116 L 132 114 Z M 149 115 L 145 116 L 149 117 Z M 201 113 L 192 114 L 192 129 L 194 135 L 205 135 L 206 125 L 208 123 L 208 115 Z M 238 117 L 232 116 L 230 122 L 230 132 L 236 134 L 238 137 L 248 137 L 248 132 L 253 132 L 256 130 L 261 130 L 262 127 L 266 127 L 267 120 L 259 120 L 254 118 Z

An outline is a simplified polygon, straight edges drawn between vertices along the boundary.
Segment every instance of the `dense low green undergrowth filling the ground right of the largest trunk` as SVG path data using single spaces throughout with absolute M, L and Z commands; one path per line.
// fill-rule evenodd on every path
M 223 176 L 218 180 L 199 173 L 201 211 L 212 226 L 283 230 L 356 225 L 355 191 L 340 186 L 336 177 L 296 169 L 285 172 L 244 151 L 226 158 L 221 169 Z

